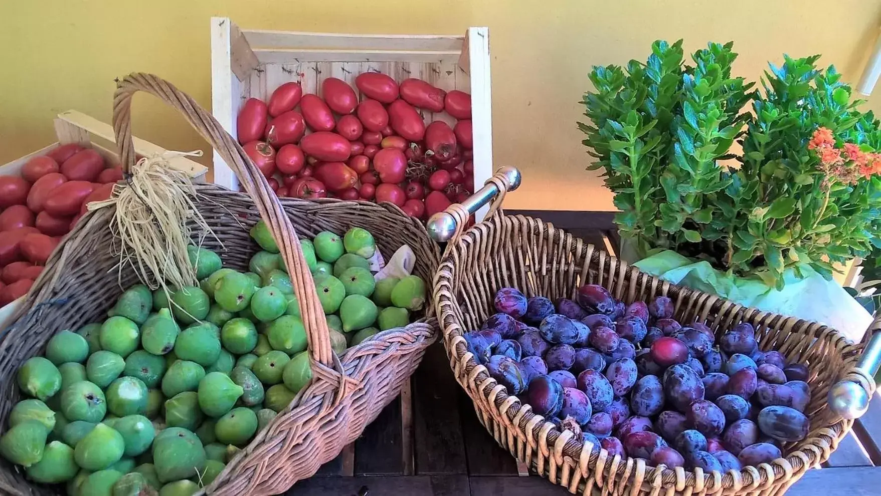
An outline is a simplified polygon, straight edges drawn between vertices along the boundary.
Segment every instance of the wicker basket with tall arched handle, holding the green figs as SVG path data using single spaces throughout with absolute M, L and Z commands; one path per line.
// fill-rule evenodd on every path
M 115 93 L 116 143 L 126 170 L 134 163 L 130 104 L 137 91 L 152 93 L 180 111 L 233 167 L 248 192 L 196 186 L 196 206 L 226 249 L 211 243 L 210 236 L 203 246 L 217 251 L 225 266 L 245 269 L 250 255 L 259 249 L 249 238 L 248 229 L 263 218 L 278 241 L 300 295 L 314 379 L 205 488 L 205 492 L 226 495 L 284 492 L 296 481 L 315 474 L 322 463 L 359 437 L 397 396 L 437 335 L 435 319 L 424 318 L 404 328 L 383 331 L 337 357 L 330 348 L 324 313 L 296 233 L 314 236 L 322 230 L 342 233 L 351 226 L 364 227 L 374 233 L 386 257 L 403 244 L 410 245 L 417 255 L 415 273 L 422 278 L 432 276 L 440 252 L 428 240 L 425 227 L 394 205 L 279 201 L 241 146 L 211 114 L 173 85 L 147 74 L 122 79 Z M 123 268 L 120 272 L 118 256 L 111 250 L 118 243 L 108 228 L 113 214 L 108 208 L 93 211 L 78 223 L 49 259 L 11 327 L 5 329 L 0 341 L 0 383 L 4 384 L 0 419 L 4 426 L 12 405 L 19 400 L 14 379 L 19 364 L 41 353 L 56 332 L 77 329 L 106 315 L 122 288 L 137 282 L 132 270 Z M 55 486 L 31 485 L 18 467 L 5 462 L 0 470 L 0 489 L 4 494 L 59 492 Z

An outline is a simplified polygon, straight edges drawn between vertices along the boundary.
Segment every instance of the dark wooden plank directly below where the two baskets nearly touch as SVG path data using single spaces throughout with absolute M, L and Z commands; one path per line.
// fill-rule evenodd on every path
M 443 344 L 428 347 L 412 382 L 417 473 L 467 473 L 459 416 L 462 388 L 449 368 Z

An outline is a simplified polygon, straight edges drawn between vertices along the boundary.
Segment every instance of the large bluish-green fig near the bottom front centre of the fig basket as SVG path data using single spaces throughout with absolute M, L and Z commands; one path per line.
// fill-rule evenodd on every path
M 193 477 L 205 470 L 202 441 L 187 429 L 168 427 L 153 440 L 153 465 L 162 483 Z

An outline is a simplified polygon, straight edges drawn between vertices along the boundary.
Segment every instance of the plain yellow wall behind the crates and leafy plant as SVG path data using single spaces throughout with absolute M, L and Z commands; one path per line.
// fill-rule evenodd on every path
M 811 7 L 808 7 L 808 6 Z M 877 0 L 4 0 L 0 2 L 0 163 L 53 140 L 76 108 L 109 122 L 113 79 L 150 71 L 211 107 L 209 18 L 242 27 L 350 33 L 462 33 L 490 26 L 494 154 L 521 167 L 508 208 L 611 210 L 575 121 L 593 64 L 644 58 L 652 41 L 734 40 L 756 78 L 781 54 L 824 55 L 859 77 L 881 23 Z M 134 130 L 175 150 L 205 144 L 155 101 Z M 868 107 L 881 114 L 881 85 Z

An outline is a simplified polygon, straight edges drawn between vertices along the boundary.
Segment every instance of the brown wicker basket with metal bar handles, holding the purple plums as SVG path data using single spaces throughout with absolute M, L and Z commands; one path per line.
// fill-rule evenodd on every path
M 500 205 L 507 184 L 501 174 L 491 181 L 502 192 L 493 211 Z M 448 213 L 460 221 L 467 218 L 461 205 L 453 205 Z M 870 397 L 875 389 L 870 375 L 855 368 L 862 344 L 848 344 L 836 330 L 670 285 L 628 268 L 626 263 L 539 219 L 506 217 L 497 210 L 450 241 L 447 250 L 435 277 L 434 302 L 456 380 L 474 401 L 481 423 L 502 448 L 526 463 L 529 470 L 573 493 L 781 494 L 806 470 L 824 462 L 853 424 L 853 420 L 836 418 L 827 407 L 829 387 L 848 378 L 867 389 Z M 492 300 L 501 287 L 513 286 L 528 297 L 544 295 L 555 300 L 573 299 L 576 289 L 584 284 L 603 285 L 627 303 L 669 296 L 677 320 L 707 322 L 717 333 L 738 322 L 753 324 L 762 350 L 778 350 L 788 359 L 809 365 L 812 396 L 805 411 L 811 418 L 808 437 L 788 443 L 783 449 L 786 458 L 722 474 L 655 468 L 642 459 L 611 457 L 604 449 L 591 452 L 570 431 L 561 433 L 544 422 L 528 404 L 508 396 L 505 387 L 475 361 L 463 333 L 478 329 L 495 313 Z

